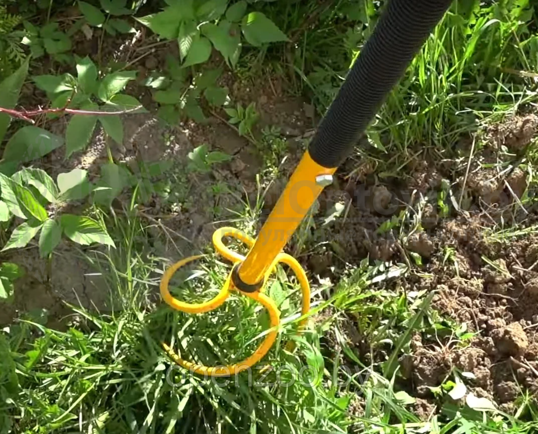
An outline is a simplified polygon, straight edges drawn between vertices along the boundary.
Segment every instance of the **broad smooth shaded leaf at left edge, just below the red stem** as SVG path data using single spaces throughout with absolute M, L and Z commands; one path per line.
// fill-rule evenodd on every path
M 4 161 L 27 162 L 41 158 L 63 145 L 63 139 L 37 126 L 24 126 L 5 146 Z

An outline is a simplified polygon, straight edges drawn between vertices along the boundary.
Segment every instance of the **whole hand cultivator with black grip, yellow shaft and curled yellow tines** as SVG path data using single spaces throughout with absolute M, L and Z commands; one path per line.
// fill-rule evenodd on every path
M 169 293 L 168 283 L 172 275 L 200 256 L 182 259 L 166 270 L 160 291 L 162 298 L 174 309 L 190 314 L 208 312 L 223 304 L 231 291 L 238 290 L 264 305 L 272 325 L 263 343 L 250 357 L 226 368 L 195 365 L 178 357 L 172 348 L 163 343 L 166 352 L 176 363 L 197 374 L 211 376 L 233 375 L 257 364 L 277 338 L 280 314 L 274 301 L 263 293 L 263 287 L 278 264 L 288 265 L 295 273 L 302 291 L 302 314 L 307 314 L 310 308 L 310 287 L 306 273 L 299 262 L 287 253 L 282 253 L 282 249 L 323 188 L 332 183 L 332 175 L 339 163 L 364 133 L 385 97 L 404 74 L 450 3 L 450 0 L 388 2 L 376 29 L 360 52 L 258 238 L 254 240 L 232 227 L 223 227 L 214 233 L 216 251 L 233 263 L 224 286 L 215 298 L 204 303 L 188 304 L 176 300 Z M 250 248 L 246 257 L 226 247 L 224 237 L 233 237 L 245 243 Z

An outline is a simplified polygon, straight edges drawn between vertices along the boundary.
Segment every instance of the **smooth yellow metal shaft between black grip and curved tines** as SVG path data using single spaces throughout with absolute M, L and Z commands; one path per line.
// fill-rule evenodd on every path
M 239 267 L 239 278 L 243 282 L 254 285 L 264 279 L 273 261 L 323 190 L 323 186 L 316 183 L 316 178 L 335 172 L 336 167 L 320 166 L 308 151 L 305 152 L 261 228 L 256 243 Z

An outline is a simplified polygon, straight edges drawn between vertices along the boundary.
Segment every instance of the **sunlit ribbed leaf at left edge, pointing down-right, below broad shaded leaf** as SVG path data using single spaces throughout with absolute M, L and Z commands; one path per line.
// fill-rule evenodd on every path
M 2 173 L 0 173 L 0 186 L 2 187 L 2 199 L 17 217 L 37 218 L 41 222 L 47 219 L 47 211 L 29 189 Z

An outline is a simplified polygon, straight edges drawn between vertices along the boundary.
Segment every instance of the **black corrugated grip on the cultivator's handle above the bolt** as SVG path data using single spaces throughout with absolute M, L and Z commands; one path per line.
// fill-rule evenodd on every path
M 324 167 L 337 167 L 404 75 L 451 0 L 389 0 L 332 102 L 308 151 Z

